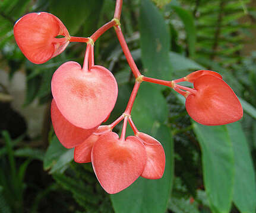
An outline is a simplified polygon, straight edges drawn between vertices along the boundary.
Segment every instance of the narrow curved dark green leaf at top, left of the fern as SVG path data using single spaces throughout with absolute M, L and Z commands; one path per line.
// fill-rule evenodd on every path
M 176 12 L 176 14 L 181 18 L 182 22 L 184 23 L 186 35 L 187 35 L 187 42 L 188 42 L 188 51 L 189 56 L 193 57 L 195 54 L 195 42 L 196 42 L 196 30 L 195 30 L 195 23 L 194 17 L 190 11 L 183 9 L 178 6 L 172 6 L 172 9 Z

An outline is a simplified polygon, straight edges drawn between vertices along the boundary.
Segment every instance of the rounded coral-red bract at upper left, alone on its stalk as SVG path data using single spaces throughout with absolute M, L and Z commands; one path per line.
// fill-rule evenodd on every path
M 64 38 L 55 38 L 57 35 Z M 61 20 L 48 12 L 32 12 L 21 17 L 14 25 L 14 37 L 27 59 L 36 64 L 62 53 L 70 39 Z

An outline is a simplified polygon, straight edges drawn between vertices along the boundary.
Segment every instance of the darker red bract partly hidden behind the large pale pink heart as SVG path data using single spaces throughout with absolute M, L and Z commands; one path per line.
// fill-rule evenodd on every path
M 64 118 L 59 111 L 54 99 L 52 100 L 50 114 L 52 117 L 52 125 L 56 136 L 58 137 L 61 144 L 68 149 L 83 143 L 84 140 L 90 137 L 90 135 L 97 130 L 97 127 L 86 130 L 76 127 L 75 125 L 68 122 L 68 120 Z

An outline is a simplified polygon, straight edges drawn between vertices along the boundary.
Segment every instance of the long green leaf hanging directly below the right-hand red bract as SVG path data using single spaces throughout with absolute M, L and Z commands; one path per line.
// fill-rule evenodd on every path
M 228 213 L 231 208 L 234 159 L 232 143 L 225 125 L 193 124 L 202 150 L 204 186 L 215 213 Z

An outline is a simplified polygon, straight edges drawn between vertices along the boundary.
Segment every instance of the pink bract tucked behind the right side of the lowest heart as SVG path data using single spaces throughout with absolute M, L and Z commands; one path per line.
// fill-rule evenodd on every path
M 165 150 L 163 150 L 162 144 L 148 134 L 139 132 L 136 135 L 143 141 L 147 152 L 147 162 L 141 177 L 162 178 L 163 172 L 165 172 Z

